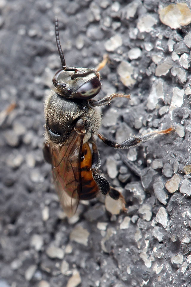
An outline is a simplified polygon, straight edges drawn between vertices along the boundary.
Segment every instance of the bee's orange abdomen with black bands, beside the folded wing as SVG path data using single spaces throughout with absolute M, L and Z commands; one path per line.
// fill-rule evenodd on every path
M 96 197 L 98 186 L 92 177 L 92 153 L 88 143 L 82 146 L 81 154 L 81 193 L 80 199 L 88 200 Z

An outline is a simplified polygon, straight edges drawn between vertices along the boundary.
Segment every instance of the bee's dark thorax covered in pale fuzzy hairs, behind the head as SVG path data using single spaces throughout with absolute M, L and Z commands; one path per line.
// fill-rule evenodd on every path
M 101 125 L 100 109 L 91 107 L 87 100 L 66 99 L 59 93 L 51 94 L 45 102 L 47 142 L 64 144 L 78 119 L 84 120 L 86 133 L 83 143 L 97 133 Z

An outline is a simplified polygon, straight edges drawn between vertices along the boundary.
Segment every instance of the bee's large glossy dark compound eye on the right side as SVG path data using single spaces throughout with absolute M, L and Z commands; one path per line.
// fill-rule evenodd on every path
M 91 99 L 101 90 L 101 83 L 98 77 L 93 77 L 76 90 L 75 97 L 78 99 Z

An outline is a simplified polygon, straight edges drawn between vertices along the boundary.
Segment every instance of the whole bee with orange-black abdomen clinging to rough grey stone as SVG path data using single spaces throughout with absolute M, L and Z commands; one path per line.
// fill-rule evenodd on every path
M 98 70 L 67 67 L 62 52 L 58 19 L 55 18 L 56 44 L 62 68 L 53 77 L 54 92 L 46 99 L 44 114 L 44 159 L 52 165 L 53 180 L 61 205 L 67 217 L 73 216 L 80 199 L 89 200 L 101 192 L 113 199 L 124 197 L 110 187 L 99 174 L 100 156 L 95 136 L 113 148 L 128 149 L 172 128 L 132 136 L 118 143 L 107 139 L 98 130 L 101 126 L 100 107 L 110 104 L 115 97 L 130 95 L 114 93 L 102 99 L 93 99 L 101 89 Z

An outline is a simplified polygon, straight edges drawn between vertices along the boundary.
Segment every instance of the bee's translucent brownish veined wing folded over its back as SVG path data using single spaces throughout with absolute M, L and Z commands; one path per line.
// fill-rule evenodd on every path
M 66 144 L 50 146 L 52 172 L 56 191 L 67 217 L 73 216 L 81 192 L 81 149 L 83 136 L 72 131 Z

